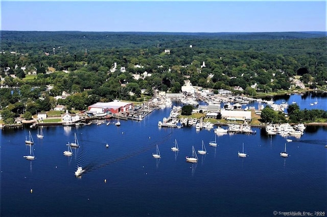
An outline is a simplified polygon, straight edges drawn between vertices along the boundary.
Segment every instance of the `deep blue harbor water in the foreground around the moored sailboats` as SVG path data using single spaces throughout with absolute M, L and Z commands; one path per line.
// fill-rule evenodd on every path
M 1 216 L 273 216 L 273 211 L 327 211 L 326 127 L 308 127 L 286 138 L 224 134 L 218 146 L 213 129 L 159 128 L 170 108 L 141 122 L 121 126 L 44 127 L 44 139 L 32 129 L 36 159 L 25 136 L 29 128 L 1 132 Z M 80 148 L 63 155 L 67 142 Z M 171 151 L 177 139 L 179 152 Z M 206 155 L 185 161 L 192 146 Z M 109 144 L 109 148 L 105 145 Z M 238 157 L 238 151 L 248 154 Z M 161 158 L 152 153 L 159 146 Z M 74 172 L 86 169 L 81 178 Z M 106 180 L 106 182 L 105 182 Z M 30 190 L 33 189 L 33 193 Z

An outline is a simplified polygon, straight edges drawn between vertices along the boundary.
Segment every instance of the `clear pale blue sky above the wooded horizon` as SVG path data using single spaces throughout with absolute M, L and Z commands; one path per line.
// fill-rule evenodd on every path
M 9 31 L 326 31 L 325 1 L 0 1 Z

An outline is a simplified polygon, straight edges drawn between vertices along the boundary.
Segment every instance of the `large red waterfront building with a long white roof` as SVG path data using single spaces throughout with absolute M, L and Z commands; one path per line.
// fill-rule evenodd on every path
M 97 102 L 88 106 L 88 111 L 94 113 L 120 113 L 120 112 L 129 112 L 134 107 L 133 102 L 121 102 L 121 101 L 112 101 L 112 102 Z

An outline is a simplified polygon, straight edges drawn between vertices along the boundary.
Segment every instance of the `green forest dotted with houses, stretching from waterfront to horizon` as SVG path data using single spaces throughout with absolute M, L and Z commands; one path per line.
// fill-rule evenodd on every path
M 0 75 L 6 88 L 0 89 L 0 106 L 11 118 L 56 104 L 84 110 L 97 101 L 137 101 L 154 89 L 179 93 L 186 79 L 216 90 L 237 92 L 233 87 L 239 86 L 252 96 L 300 89 L 293 78 L 324 90 L 326 39 L 325 32 L 1 31 Z M 55 100 L 63 91 L 71 95 Z

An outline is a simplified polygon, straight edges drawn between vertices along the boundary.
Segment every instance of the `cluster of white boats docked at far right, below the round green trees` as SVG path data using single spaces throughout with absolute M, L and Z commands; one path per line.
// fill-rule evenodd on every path
M 293 135 L 295 137 L 300 137 L 303 134 L 303 131 L 306 129 L 304 124 L 296 124 L 294 126 L 289 123 L 283 124 L 269 124 L 266 126 L 266 132 L 268 135 Z

